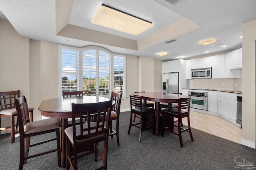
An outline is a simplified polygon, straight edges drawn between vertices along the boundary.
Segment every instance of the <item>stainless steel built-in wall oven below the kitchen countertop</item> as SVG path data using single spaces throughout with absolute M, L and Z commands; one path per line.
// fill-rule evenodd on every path
M 208 111 L 208 92 L 191 92 L 188 91 L 188 96 L 191 97 L 190 107 Z

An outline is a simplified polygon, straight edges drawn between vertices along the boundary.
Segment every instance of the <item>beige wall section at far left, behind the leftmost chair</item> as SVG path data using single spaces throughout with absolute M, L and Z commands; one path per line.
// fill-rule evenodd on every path
M 0 20 L 0 92 L 20 90 L 29 98 L 29 39 L 18 35 L 10 22 Z M 28 99 L 28 104 L 30 106 Z M 2 126 L 10 119 L 1 117 Z

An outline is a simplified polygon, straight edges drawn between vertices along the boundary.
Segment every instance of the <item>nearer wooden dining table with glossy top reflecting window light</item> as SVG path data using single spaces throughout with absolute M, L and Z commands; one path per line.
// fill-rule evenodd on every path
M 41 115 L 52 118 L 59 118 L 62 121 L 61 130 L 61 145 L 62 145 L 62 168 L 66 167 L 66 135 L 64 130 L 68 127 L 68 118 L 72 118 L 72 103 L 86 104 L 106 102 L 110 99 L 101 96 L 74 96 L 74 97 L 59 97 L 44 100 L 38 107 Z M 114 101 L 113 101 L 114 104 Z

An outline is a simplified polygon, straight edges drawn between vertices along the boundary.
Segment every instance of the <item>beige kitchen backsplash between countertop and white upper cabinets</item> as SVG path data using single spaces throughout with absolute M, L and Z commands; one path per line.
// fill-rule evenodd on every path
M 242 78 L 236 79 L 192 79 L 190 88 L 209 88 L 216 90 L 242 91 Z

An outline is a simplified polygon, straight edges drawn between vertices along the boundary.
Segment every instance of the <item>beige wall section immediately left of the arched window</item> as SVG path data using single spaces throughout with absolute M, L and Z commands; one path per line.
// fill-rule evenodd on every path
M 42 100 L 59 96 L 58 44 L 30 40 L 30 98 L 34 119 L 40 120 Z

